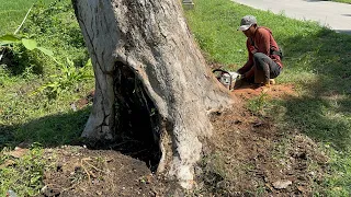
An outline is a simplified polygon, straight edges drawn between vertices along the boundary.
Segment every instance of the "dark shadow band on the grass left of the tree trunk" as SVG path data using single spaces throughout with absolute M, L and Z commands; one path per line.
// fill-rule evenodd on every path
M 15 147 L 21 142 L 38 142 L 44 147 L 80 144 L 80 135 L 90 115 L 91 107 L 45 116 L 24 125 L 0 125 L 0 148 Z

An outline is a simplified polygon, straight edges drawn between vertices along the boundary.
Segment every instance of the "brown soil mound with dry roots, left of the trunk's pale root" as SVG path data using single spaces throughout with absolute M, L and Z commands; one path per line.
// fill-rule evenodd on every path
M 52 166 L 41 196 L 165 196 L 171 185 L 145 162 L 113 150 L 64 146 L 46 149 L 45 158 Z

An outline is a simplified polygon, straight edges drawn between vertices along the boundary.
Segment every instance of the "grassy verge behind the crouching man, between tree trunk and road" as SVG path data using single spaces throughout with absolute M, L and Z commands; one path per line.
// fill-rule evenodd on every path
M 228 0 L 197 0 L 195 9 L 186 12 L 194 37 L 208 59 L 233 70 L 247 57 L 246 37 L 236 31 L 246 14 L 256 15 L 259 25 L 272 30 L 285 54 L 285 68 L 278 81 L 294 84 L 299 94 L 274 102 L 284 108 L 276 115 L 276 123 L 282 131 L 297 129 L 309 136 L 331 157 L 330 175 L 316 194 L 350 195 L 351 36 Z

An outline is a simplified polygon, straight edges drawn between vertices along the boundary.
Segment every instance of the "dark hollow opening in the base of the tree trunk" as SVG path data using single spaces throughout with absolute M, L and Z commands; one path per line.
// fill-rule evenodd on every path
M 114 94 L 116 141 L 112 148 L 145 161 L 155 172 L 161 158 L 159 113 L 141 81 L 122 62 L 116 63 Z

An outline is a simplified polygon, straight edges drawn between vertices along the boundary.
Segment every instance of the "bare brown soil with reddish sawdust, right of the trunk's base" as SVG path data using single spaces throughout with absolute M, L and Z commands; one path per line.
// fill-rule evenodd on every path
M 292 85 L 274 85 L 275 99 L 295 95 Z M 213 115 L 213 149 L 199 173 L 203 194 L 211 196 L 313 196 L 321 184 L 328 158 L 307 136 L 279 130 L 272 117 L 245 109 L 258 96 L 250 86 L 234 90 L 235 111 Z M 240 111 L 241 108 L 241 111 Z

